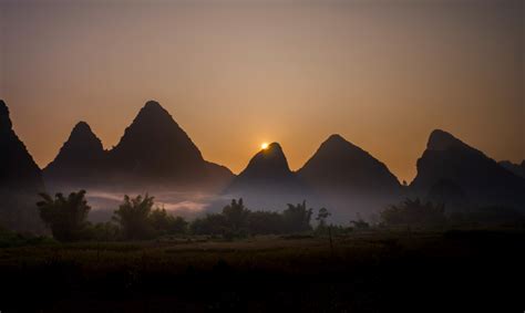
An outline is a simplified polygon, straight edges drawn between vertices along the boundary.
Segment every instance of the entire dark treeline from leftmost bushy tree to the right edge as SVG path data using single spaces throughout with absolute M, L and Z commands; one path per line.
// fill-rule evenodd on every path
M 234 199 L 218 213 L 207 213 L 188 222 L 174 217 L 165 209 L 155 207 L 154 197 L 124 196 L 123 202 L 113 212 L 111 221 L 91 223 L 87 215 L 91 207 L 85 191 L 72 192 L 68 197 L 56 194 L 40 195 L 37 204 L 40 218 L 59 241 L 79 240 L 147 240 L 163 236 L 220 236 L 224 239 L 257 234 L 311 233 L 334 234 L 371 229 L 445 229 L 475 226 L 524 227 L 524 216 L 513 209 L 486 207 L 465 212 L 445 212 L 444 205 L 420 199 L 406 199 L 380 212 L 379 220 L 370 225 L 362 219 L 349 226 L 328 225 L 330 212 L 326 208 L 317 211 L 312 227 L 313 209 L 306 201 L 287 205 L 281 212 L 249 210 L 243 199 Z

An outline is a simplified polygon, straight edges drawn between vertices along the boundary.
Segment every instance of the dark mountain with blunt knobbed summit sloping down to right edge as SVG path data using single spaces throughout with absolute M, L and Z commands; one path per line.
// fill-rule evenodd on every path
M 441 187 L 440 187 L 441 186 Z M 445 186 L 446 188 L 443 188 Z M 461 196 L 471 206 L 505 205 L 525 208 L 525 179 L 500 166 L 482 152 L 464 144 L 451 134 L 432 132 L 423 156 L 418 160 L 418 175 L 411 189 L 421 197 L 441 198 L 454 202 Z

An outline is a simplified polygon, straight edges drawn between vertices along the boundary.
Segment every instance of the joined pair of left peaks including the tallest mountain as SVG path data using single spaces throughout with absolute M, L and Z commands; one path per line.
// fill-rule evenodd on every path
M 44 168 L 50 186 L 123 188 L 224 188 L 233 174 L 206 161 L 197 146 L 157 102 L 150 101 L 105 152 L 85 123 L 79 123 L 56 158 Z

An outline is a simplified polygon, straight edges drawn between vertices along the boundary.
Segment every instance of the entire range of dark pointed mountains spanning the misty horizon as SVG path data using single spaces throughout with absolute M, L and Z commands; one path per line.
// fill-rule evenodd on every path
M 12 131 L 3 102 L 0 148 L 1 192 L 34 195 L 43 189 L 42 171 Z M 43 177 L 48 190 L 53 191 L 187 187 L 222 195 L 225 200 L 244 197 L 253 209 L 278 210 L 287 202 L 306 199 L 313 207 L 327 207 L 339 222 L 348 222 L 358 212 L 369 217 L 406 196 L 444 202 L 450 209 L 503 205 L 525 211 L 525 161 L 498 164 L 437 129 L 416 166 L 412 184 L 401 186 L 383 163 L 332 135 L 297 171 L 289 168 L 281 146 L 274 143 L 235 176 L 205 160 L 169 113 L 150 101 L 111 150 L 104 150 L 86 123 L 76 124 L 55 159 L 43 169 Z M 7 220 L 11 211 L 0 208 L 0 213 Z

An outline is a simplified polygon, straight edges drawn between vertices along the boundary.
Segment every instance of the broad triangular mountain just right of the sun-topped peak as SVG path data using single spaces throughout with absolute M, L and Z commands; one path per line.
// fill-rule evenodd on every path
M 348 222 L 398 200 L 402 187 L 387 166 L 340 135 L 331 135 L 298 170 L 325 199 L 334 219 Z

